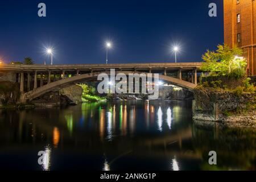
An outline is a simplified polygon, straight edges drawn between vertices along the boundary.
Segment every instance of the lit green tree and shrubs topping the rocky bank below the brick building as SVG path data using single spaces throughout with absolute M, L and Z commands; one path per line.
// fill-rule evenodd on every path
M 202 56 L 205 73 L 200 77 L 199 88 L 234 92 L 237 96 L 255 93 L 255 85 L 246 77 L 247 61 L 242 55 L 242 49 L 226 45 L 218 45 L 216 51 L 205 52 Z

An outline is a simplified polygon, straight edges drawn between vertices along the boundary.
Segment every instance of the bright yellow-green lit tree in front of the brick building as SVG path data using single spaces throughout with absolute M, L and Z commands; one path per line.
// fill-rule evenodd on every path
M 226 45 L 218 45 L 216 51 L 204 53 L 202 70 L 210 75 L 220 75 L 234 78 L 245 76 L 247 61 L 242 57 L 243 51 L 238 47 L 230 48 Z

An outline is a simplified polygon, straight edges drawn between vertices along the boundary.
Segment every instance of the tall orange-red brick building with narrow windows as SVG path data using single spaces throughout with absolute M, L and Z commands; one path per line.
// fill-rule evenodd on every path
M 224 43 L 241 47 L 247 75 L 256 75 L 256 1 L 224 0 Z

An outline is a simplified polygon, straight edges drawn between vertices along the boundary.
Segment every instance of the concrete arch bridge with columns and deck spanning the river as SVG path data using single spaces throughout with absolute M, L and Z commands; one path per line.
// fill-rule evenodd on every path
M 3 64 L 1 72 L 19 82 L 21 100 L 31 101 L 52 90 L 59 90 L 82 81 L 97 80 L 100 73 L 110 75 L 134 73 L 159 74 L 159 80 L 193 91 L 197 86 L 197 73 L 201 63 L 148 63 L 148 64 L 82 64 L 82 65 L 11 65 Z M 33 79 L 34 78 L 34 79 Z M 0 77 L 1 81 L 1 77 Z M 25 84 L 26 82 L 26 84 Z M 34 82 L 34 85 L 32 83 Z

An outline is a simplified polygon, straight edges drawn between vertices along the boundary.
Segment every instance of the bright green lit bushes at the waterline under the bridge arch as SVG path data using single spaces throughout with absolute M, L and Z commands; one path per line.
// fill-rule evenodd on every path
M 81 86 L 82 92 L 82 102 L 99 102 L 105 101 L 105 97 L 100 97 L 96 93 L 96 88 L 94 86 L 90 86 L 88 84 L 78 84 Z

